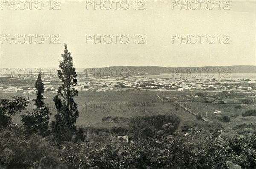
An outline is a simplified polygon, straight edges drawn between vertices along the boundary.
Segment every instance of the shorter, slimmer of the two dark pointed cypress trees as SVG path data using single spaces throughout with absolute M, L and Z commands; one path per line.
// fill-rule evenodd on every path
M 38 74 L 38 78 L 35 81 L 35 88 L 37 89 L 36 91 L 36 99 L 32 100 L 35 101 L 35 106 L 36 108 L 40 108 L 40 107 L 44 107 L 44 84 L 41 78 L 42 74 L 41 74 L 41 69 L 39 69 L 39 74 Z

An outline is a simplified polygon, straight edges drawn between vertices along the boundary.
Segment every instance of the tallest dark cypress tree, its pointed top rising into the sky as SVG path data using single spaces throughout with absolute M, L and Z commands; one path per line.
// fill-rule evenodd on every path
M 52 130 L 57 139 L 70 140 L 74 132 L 76 132 L 76 118 L 78 118 L 77 104 L 73 97 L 78 95 L 78 91 L 74 89 L 77 84 L 76 68 L 73 67 L 73 58 L 64 45 L 63 61 L 60 61 L 58 77 L 62 81 L 62 85 L 58 88 L 58 93 L 54 97 L 57 114 L 55 121 L 52 122 Z

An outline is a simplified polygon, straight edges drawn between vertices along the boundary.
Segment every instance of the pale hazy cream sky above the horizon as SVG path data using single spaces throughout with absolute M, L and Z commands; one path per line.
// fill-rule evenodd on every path
M 12 1 L 13 4 L 15 1 Z M 24 1 L 26 2 L 26 1 Z M 128 9 L 121 8 L 121 2 L 109 3 L 102 1 L 102 10 L 97 6 L 96 10 L 85 0 L 59 0 L 51 1 L 51 10 L 47 1 L 41 1 L 44 7 L 41 10 L 29 3 L 24 8 L 23 3 L 17 1 L 15 6 L 9 6 L 9 0 L 1 0 L 0 10 L 0 67 L 1 68 L 34 68 L 34 67 L 58 67 L 64 43 L 67 43 L 74 59 L 76 68 L 91 68 L 105 66 L 225 66 L 225 65 L 256 65 L 256 1 L 255 0 L 229 0 L 228 3 L 218 4 L 219 0 L 212 0 L 212 10 L 206 8 L 206 2 L 202 4 L 188 3 L 188 9 L 182 6 L 180 1 L 171 0 L 144 0 L 136 2 L 127 0 Z M 143 2 L 145 3 L 143 5 Z M 195 2 L 198 2 L 197 0 Z M 224 2 L 224 1 L 222 1 Z M 6 4 L 8 3 L 8 4 Z M 97 1 L 100 3 L 100 1 Z M 186 1 L 183 1 L 185 4 Z M 104 6 L 105 4 L 105 6 Z M 6 6 L 7 5 L 7 6 Z M 52 10 L 58 5 L 58 10 Z M 138 10 L 143 5 L 144 10 Z M 172 6 L 173 5 L 173 6 Z M 211 8 L 208 3 L 208 8 Z M 230 10 L 223 10 L 225 6 Z M 9 7 L 12 7 L 9 9 Z M 41 7 L 41 3 L 37 3 Z M 87 9 L 88 7 L 88 9 Z M 104 8 L 105 7 L 105 8 Z M 122 3 L 126 7 L 126 3 Z M 173 9 L 172 9 L 173 8 Z M 15 40 L 9 42 L 9 35 Z M 31 44 L 29 36 L 32 37 Z M 41 44 L 35 41 L 35 37 L 41 35 L 44 38 Z M 51 37 L 49 44 L 49 35 Z M 54 37 L 54 35 L 57 35 Z M 104 40 L 105 35 L 110 35 L 112 41 L 107 44 L 109 37 L 105 37 L 102 44 L 100 40 L 88 41 L 87 35 L 94 35 Z M 115 37 L 119 35 L 115 43 Z M 129 41 L 124 44 L 127 35 Z M 136 35 L 136 44 L 134 44 Z M 140 36 L 139 35 L 143 35 Z M 177 35 L 177 36 L 175 36 Z M 181 43 L 174 37 L 188 35 L 190 41 Z M 202 37 L 202 44 L 200 37 Z M 208 36 L 210 35 L 210 36 Z M 220 36 L 221 35 L 221 36 Z M 225 36 L 226 35 L 226 36 Z M 214 37 L 213 42 L 211 37 Z M 20 37 L 20 38 L 19 38 Z M 26 37 L 26 42 L 22 44 Z M 47 38 L 48 37 L 48 38 Z M 52 42 L 59 37 L 56 42 Z M 140 39 L 144 44 L 138 44 Z M 197 42 L 194 42 L 197 37 Z M 8 38 L 7 40 L 5 40 Z M 219 43 L 221 39 L 221 44 Z M 224 41 L 229 44 L 224 44 Z M 38 37 L 38 42 L 41 38 Z

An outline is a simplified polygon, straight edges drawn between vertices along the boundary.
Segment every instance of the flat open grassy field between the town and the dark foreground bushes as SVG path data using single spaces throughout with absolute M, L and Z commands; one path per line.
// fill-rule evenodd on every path
M 44 102 L 47 103 L 50 111 L 52 112 L 51 120 L 54 119 L 55 105 L 52 100 L 56 93 L 45 92 Z M 194 115 L 191 115 L 187 111 L 180 109 L 176 110 L 174 103 L 182 100 L 186 95 L 192 95 L 195 92 L 176 92 L 176 91 L 141 91 L 141 90 L 125 90 L 125 91 L 108 91 L 108 92 L 91 92 L 91 91 L 79 91 L 79 95 L 75 97 L 75 101 L 78 104 L 79 118 L 76 124 L 82 126 L 97 126 L 97 127 L 109 127 L 109 126 L 122 126 L 126 124 L 113 124 L 102 122 L 104 116 L 123 116 L 134 117 L 138 115 L 156 115 L 156 114 L 168 114 L 175 113 L 182 119 L 180 126 L 184 123 L 191 124 L 192 122 L 205 123 L 204 121 L 198 121 Z M 31 103 L 32 99 L 35 99 L 35 94 L 27 93 L 1 93 L 1 98 L 11 99 L 12 96 L 29 96 Z M 159 97 L 158 97 L 159 96 Z M 169 97 L 168 100 L 164 99 Z M 175 97 L 175 99 L 174 99 Z M 185 102 L 182 102 L 184 105 Z M 191 104 L 191 106 L 190 106 Z M 206 104 L 199 102 L 186 102 L 186 106 L 195 113 L 201 113 L 205 116 L 216 121 L 216 115 L 213 114 L 213 110 L 220 110 L 221 115 L 238 114 L 236 118 L 231 118 L 231 127 L 241 123 L 255 122 L 255 117 L 242 117 L 241 114 L 246 110 L 253 109 L 255 106 L 244 105 L 241 109 L 235 109 L 234 105 L 221 104 Z M 222 106 L 222 107 L 220 107 Z M 198 107 L 198 111 L 197 111 Z M 33 105 L 30 105 L 27 110 L 32 110 Z M 23 112 L 25 113 L 25 111 Z M 20 117 L 18 115 L 13 116 L 12 120 L 19 124 Z M 218 121 L 220 122 L 220 121 Z M 228 122 L 220 122 L 224 128 L 229 127 Z

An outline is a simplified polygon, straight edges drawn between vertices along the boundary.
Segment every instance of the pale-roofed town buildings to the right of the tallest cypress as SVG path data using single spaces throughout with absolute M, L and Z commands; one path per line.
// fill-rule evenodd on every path
M 162 89 L 162 90 L 255 90 L 247 87 L 248 84 L 255 84 L 255 81 L 229 80 L 212 81 L 209 79 L 185 80 L 185 79 L 145 79 L 145 78 L 122 78 L 122 79 L 93 79 L 83 82 L 80 85 L 82 90 L 108 91 L 116 88 L 128 89 Z M 255 85 L 254 85 L 255 86 Z

